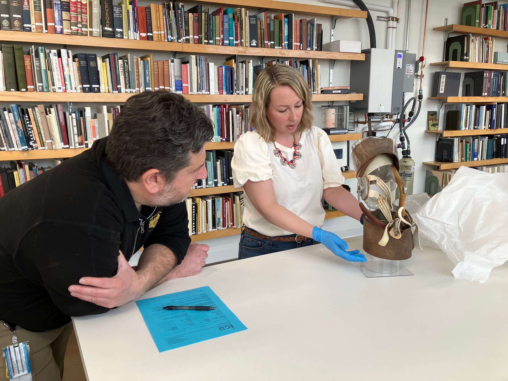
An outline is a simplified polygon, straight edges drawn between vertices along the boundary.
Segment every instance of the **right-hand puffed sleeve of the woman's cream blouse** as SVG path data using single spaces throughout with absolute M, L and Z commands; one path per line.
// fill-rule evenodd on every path
M 333 153 L 332 142 L 326 133 L 319 127 L 312 127 L 317 137 L 317 155 L 323 173 L 323 189 L 340 186 L 344 183 L 344 176 L 340 171 L 335 153 Z

